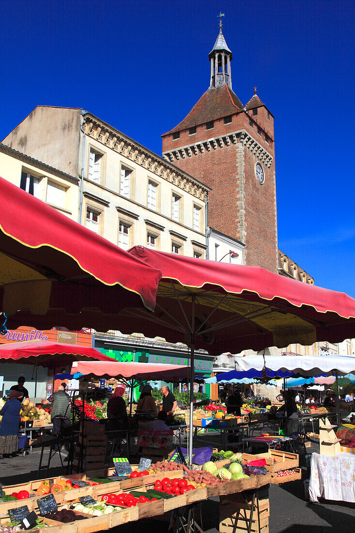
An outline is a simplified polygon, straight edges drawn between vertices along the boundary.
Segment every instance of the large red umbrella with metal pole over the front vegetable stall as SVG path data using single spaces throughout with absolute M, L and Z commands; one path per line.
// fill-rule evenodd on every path
M 149 337 L 189 344 L 191 368 L 195 348 L 218 356 L 355 336 L 355 300 L 344 293 L 255 266 L 193 259 L 141 246 L 130 253 L 163 273 L 155 312 L 124 312 L 131 317 L 131 328 Z M 193 375 L 191 425 L 192 385 Z

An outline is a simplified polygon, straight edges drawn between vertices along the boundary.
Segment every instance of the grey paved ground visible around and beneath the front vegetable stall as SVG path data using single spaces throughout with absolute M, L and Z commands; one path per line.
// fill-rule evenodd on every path
M 45 459 L 47 458 L 45 454 Z M 20 483 L 37 478 L 39 452 L 34 451 L 27 457 L 3 459 L 1 463 L 0 483 L 2 485 Z M 50 475 L 63 473 L 58 456 L 54 457 Z M 305 472 L 304 472 L 305 478 Z M 203 505 L 204 529 L 218 528 L 218 503 L 208 500 Z M 350 533 L 354 531 L 355 505 L 342 503 L 319 504 L 306 503 L 304 499 L 303 481 L 284 483 L 280 486 L 270 486 L 270 533 Z M 168 524 L 147 520 L 144 523 L 146 533 L 156 533 L 157 527 L 165 533 Z M 215 528 L 215 529 L 214 529 Z M 119 528 L 126 529 L 126 526 Z M 130 533 L 141 533 L 141 523 L 130 524 Z M 211 533 L 213 533 L 211 531 Z

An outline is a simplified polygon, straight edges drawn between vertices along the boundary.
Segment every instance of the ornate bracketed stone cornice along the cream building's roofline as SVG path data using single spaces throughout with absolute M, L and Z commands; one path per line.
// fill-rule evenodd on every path
M 207 185 L 199 182 L 163 157 L 154 154 L 148 148 L 143 147 L 97 117 L 87 113 L 84 118 L 85 133 L 92 139 L 101 142 L 104 146 L 171 182 L 175 187 L 179 187 L 196 198 L 206 201 L 207 193 L 211 190 Z

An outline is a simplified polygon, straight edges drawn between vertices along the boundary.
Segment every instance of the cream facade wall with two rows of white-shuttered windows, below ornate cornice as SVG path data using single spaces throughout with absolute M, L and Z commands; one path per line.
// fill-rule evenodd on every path
M 104 238 L 118 244 L 118 223 L 130 224 L 130 241 L 128 247 L 134 245 L 147 246 L 147 232 L 157 237 L 156 249 L 171 252 L 172 241 L 181 246 L 183 255 L 193 255 L 196 251 L 202 257 L 205 253 L 205 201 L 196 198 L 192 193 L 175 187 L 174 184 L 157 176 L 154 172 L 142 167 L 132 159 L 118 154 L 104 146 L 100 141 L 86 135 L 85 139 L 85 171 L 88 176 L 89 153 L 93 149 L 102 154 L 101 183 L 85 179 L 82 223 L 85 224 L 86 207 L 91 207 L 100 213 L 101 222 L 99 232 Z M 132 170 L 130 198 L 119 194 L 121 168 Z M 148 181 L 157 184 L 157 207 L 153 211 L 147 207 Z M 180 222 L 172 220 L 172 194 L 181 197 Z M 93 197 L 98 198 L 95 200 Z M 101 202 L 100 202 L 100 200 Z M 109 205 L 105 205 L 108 204 Z M 192 229 L 193 206 L 200 208 L 200 231 Z M 103 222 L 102 222 L 103 219 Z M 174 235 L 170 231 L 175 232 Z M 179 234 L 179 235 L 176 235 Z M 181 236 L 181 237 L 180 237 Z M 191 243 L 191 241 L 195 241 Z M 196 243 L 201 243 L 198 246 Z

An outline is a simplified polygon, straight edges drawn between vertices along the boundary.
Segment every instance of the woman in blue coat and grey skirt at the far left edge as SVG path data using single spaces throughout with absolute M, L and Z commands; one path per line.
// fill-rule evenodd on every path
M 18 391 L 10 392 L 9 400 L 0 411 L 2 421 L 0 425 L 0 458 L 14 457 L 19 449 L 19 426 L 21 403 Z

